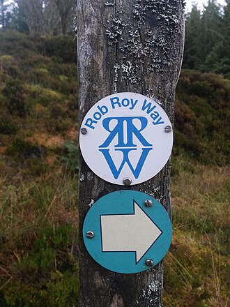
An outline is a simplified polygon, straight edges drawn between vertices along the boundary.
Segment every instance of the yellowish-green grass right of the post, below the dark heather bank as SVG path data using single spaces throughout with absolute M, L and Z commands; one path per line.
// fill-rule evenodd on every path
M 164 306 L 225 307 L 229 302 L 229 167 L 176 158 L 174 239 L 166 257 Z

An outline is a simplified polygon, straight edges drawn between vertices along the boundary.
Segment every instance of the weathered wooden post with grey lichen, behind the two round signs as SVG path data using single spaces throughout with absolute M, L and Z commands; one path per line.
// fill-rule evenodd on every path
M 116 91 L 155 96 L 173 122 L 183 40 L 183 0 L 77 0 L 79 124 L 93 104 Z M 90 204 L 124 187 L 93 174 L 81 154 L 79 165 L 79 307 L 162 306 L 162 262 L 139 274 L 116 274 L 87 253 L 82 224 Z M 169 175 L 170 161 L 132 189 L 153 195 L 169 211 Z

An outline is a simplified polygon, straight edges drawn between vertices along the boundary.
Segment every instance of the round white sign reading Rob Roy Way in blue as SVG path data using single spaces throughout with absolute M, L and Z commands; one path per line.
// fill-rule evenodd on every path
M 82 121 L 79 145 L 98 177 L 112 184 L 140 184 L 162 170 L 171 155 L 173 133 L 157 101 L 139 93 L 114 93 L 91 107 Z

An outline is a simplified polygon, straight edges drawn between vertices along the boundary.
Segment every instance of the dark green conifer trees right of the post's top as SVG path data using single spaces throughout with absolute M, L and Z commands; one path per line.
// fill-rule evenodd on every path
M 230 76 L 230 3 L 221 7 L 209 0 L 203 12 L 197 4 L 185 22 L 183 67 Z

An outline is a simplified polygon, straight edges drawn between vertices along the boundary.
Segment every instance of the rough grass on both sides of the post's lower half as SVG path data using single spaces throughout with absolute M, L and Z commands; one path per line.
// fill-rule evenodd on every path
M 37 176 L 13 170 L 1 176 L 2 306 L 75 306 L 77 177 L 53 163 Z M 229 168 L 185 157 L 173 166 L 180 171 L 171 178 L 174 239 L 165 259 L 164 306 L 227 307 Z

